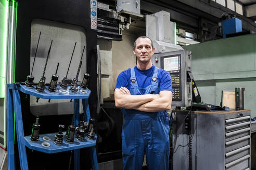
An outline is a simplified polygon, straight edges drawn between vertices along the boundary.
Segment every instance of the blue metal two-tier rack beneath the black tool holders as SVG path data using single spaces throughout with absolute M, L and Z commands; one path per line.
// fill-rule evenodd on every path
M 90 140 L 85 137 L 84 141 L 74 140 L 72 144 L 66 142 L 66 135 L 64 135 L 64 140 L 62 145 L 54 144 L 54 136 L 56 133 L 51 134 L 40 134 L 39 141 L 36 143 L 30 140 L 30 136 L 24 136 L 23 130 L 23 122 L 22 122 L 22 112 L 21 112 L 21 102 L 20 102 L 20 94 L 19 91 L 28 95 L 33 95 L 40 98 L 45 99 L 74 99 L 74 123 L 75 126 L 79 124 L 79 101 L 82 100 L 83 111 L 86 113 L 86 120 L 89 121 L 91 118 L 89 107 L 88 107 L 88 98 L 91 94 L 89 89 L 79 89 L 77 93 L 72 93 L 67 90 L 66 93 L 60 92 L 60 86 L 57 86 L 56 92 L 52 93 L 47 90 L 48 87 L 44 89 L 43 92 L 37 92 L 35 90 L 36 86 L 33 88 L 25 87 L 21 84 L 7 84 L 7 148 L 8 148 L 8 170 L 15 169 L 15 154 L 14 154 L 14 117 L 16 124 L 16 134 L 17 134 L 17 142 L 18 142 L 18 150 L 19 150 L 19 159 L 20 159 L 20 167 L 21 169 L 27 170 L 28 168 L 28 160 L 27 153 L 25 147 L 29 149 L 41 151 L 44 153 L 57 153 L 68 150 L 74 150 L 74 169 L 80 169 L 80 149 L 89 147 L 90 157 L 92 160 L 93 169 L 98 170 L 98 161 L 96 154 L 96 139 Z M 70 87 L 68 87 L 69 89 Z M 80 91 L 81 90 L 81 91 Z M 15 113 L 15 116 L 14 116 Z M 45 140 L 42 139 L 43 136 L 49 136 L 50 141 L 47 141 L 50 146 L 44 147 L 42 143 Z

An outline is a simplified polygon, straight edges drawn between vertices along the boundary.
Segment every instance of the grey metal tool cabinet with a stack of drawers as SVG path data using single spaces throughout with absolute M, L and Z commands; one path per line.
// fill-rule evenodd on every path
M 185 117 L 176 112 L 173 123 L 173 169 L 188 169 Z M 192 111 L 193 169 L 250 169 L 250 110 Z

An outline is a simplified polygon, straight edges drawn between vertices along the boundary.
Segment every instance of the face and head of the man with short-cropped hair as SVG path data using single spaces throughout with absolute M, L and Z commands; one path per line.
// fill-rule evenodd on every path
M 151 56 L 155 52 L 155 48 L 152 48 L 149 38 L 139 38 L 136 41 L 136 47 L 133 48 L 133 53 L 139 62 L 147 63 L 151 60 Z

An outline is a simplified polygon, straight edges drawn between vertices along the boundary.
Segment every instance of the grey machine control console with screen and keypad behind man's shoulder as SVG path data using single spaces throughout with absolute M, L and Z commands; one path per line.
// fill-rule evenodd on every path
M 172 78 L 172 106 L 191 106 L 192 83 L 188 75 L 191 72 L 191 51 L 180 50 L 154 54 L 153 65 L 170 73 Z

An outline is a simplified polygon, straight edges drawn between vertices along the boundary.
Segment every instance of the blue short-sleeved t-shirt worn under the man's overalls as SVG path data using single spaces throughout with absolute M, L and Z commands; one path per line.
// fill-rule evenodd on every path
M 140 70 L 137 68 L 137 66 L 134 67 L 135 76 L 139 88 L 146 88 L 151 84 L 151 77 L 153 76 L 154 70 L 155 66 L 152 66 L 146 70 Z M 172 79 L 167 71 L 159 68 L 157 78 L 159 92 L 163 90 L 172 91 Z M 117 84 L 114 89 L 125 87 L 130 90 L 131 82 L 131 68 L 129 68 L 119 74 L 117 78 Z

